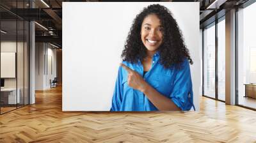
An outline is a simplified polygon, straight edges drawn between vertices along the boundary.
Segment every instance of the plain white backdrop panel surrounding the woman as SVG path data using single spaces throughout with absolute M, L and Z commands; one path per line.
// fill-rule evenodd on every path
M 109 110 L 132 20 L 153 3 L 63 3 L 63 110 Z M 199 110 L 201 59 L 199 3 L 159 3 L 177 20 L 194 64 L 194 103 Z M 92 14 L 93 13 L 93 14 Z

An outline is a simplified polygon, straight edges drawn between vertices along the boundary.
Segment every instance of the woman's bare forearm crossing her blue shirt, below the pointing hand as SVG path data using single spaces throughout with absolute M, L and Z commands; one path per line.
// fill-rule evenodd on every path
M 148 100 L 157 107 L 158 110 L 180 110 L 180 108 L 177 107 L 170 98 L 159 93 L 147 82 L 141 91 L 148 97 Z

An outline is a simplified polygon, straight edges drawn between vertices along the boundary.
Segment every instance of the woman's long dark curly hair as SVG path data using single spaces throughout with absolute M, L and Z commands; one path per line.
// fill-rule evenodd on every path
M 150 14 L 157 15 L 161 26 L 163 26 L 163 42 L 157 51 L 159 51 L 160 55 L 159 62 L 163 64 L 164 68 L 179 65 L 185 58 L 189 60 L 190 64 L 193 64 L 176 20 L 173 19 L 170 10 L 160 4 L 152 4 L 147 8 L 143 8 L 141 13 L 133 20 L 125 43 L 125 49 L 121 56 L 123 61 L 138 63 L 139 59 L 142 61 L 147 57 L 147 49 L 141 41 L 140 33 L 143 20 Z

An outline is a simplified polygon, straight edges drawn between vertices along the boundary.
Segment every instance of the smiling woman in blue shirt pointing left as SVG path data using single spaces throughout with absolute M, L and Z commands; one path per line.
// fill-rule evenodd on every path
M 193 61 L 166 7 L 152 4 L 136 16 L 122 57 L 111 111 L 195 110 Z

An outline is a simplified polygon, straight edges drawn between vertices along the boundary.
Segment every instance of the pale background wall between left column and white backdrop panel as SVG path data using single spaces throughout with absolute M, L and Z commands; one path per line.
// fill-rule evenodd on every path
M 56 77 L 56 49 L 49 43 L 36 43 L 35 47 L 35 89 L 49 89 L 50 79 Z M 52 67 L 52 72 L 49 67 Z

